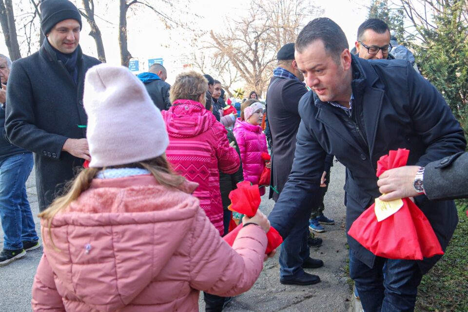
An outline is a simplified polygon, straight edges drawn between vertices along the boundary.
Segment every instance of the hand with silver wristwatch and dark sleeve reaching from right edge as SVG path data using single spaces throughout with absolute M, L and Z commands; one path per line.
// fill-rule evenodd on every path
M 425 167 L 404 166 L 387 170 L 377 183 L 380 199 L 417 196 L 423 189 L 429 199 L 468 198 L 468 153 L 432 161 Z

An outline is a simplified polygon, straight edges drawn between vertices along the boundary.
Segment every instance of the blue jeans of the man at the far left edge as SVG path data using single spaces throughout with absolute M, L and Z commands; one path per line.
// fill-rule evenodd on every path
M 0 163 L 0 218 L 4 249 L 21 249 L 23 241 L 39 240 L 26 195 L 26 180 L 32 169 L 32 153 L 10 156 Z

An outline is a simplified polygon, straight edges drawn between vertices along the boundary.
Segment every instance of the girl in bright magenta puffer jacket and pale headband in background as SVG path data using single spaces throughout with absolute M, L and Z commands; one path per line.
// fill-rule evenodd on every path
M 265 161 L 262 153 L 268 153 L 267 138 L 260 124 L 263 118 L 263 106 L 255 99 L 249 99 L 242 104 L 240 118 L 234 125 L 234 136 L 240 150 L 244 180 L 258 184 Z M 266 166 L 271 168 L 271 162 Z M 265 194 L 265 187 L 260 188 L 260 195 Z

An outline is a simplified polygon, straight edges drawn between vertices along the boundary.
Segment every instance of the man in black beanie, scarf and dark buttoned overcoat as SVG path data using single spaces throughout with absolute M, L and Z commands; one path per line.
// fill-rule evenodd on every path
M 89 160 L 83 108 L 86 71 L 99 60 L 79 47 L 81 16 L 68 0 L 43 0 L 39 51 L 13 62 L 5 130 L 10 141 L 34 152 L 39 210 Z

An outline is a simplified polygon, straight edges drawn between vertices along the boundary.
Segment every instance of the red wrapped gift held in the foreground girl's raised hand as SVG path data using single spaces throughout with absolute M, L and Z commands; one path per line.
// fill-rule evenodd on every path
M 237 213 L 253 217 L 260 206 L 260 192 L 258 191 L 258 185 L 251 185 L 248 181 L 242 181 L 237 183 L 237 189 L 229 193 L 229 199 L 232 204 L 228 207 L 229 210 Z M 234 240 L 237 237 L 240 229 L 242 229 L 242 223 L 239 224 L 232 232 L 225 235 L 223 239 L 231 246 L 234 244 Z M 231 229 L 230 229 L 231 230 Z M 268 245 L 266 254 L 270 254 L 283 242 L 283 238 L 273 227 L 270 227 L 270 231 L 267 233 Z

